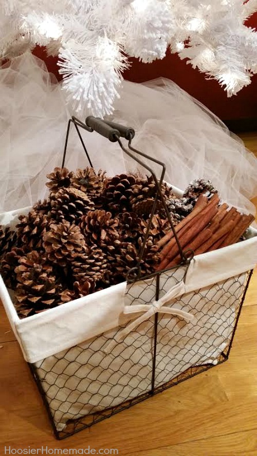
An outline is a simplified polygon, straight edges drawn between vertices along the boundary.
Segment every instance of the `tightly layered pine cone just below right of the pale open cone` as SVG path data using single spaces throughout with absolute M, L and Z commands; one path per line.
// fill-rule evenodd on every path
M 96 246 L 90 248 L 87 253 L 76 257 L 71 265 L 72 275 L 75 281 L 80 283 L 102 280 L 106 268 L 106 254 Z

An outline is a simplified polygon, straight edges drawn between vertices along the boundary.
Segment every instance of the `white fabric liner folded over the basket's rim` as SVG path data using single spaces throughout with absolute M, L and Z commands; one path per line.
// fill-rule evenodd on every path
M 14 225 L 17 216 L 26 210 L 0 215 L 0 224 Z M 257 263 L 257 231 L 253 237 L 214 252 L 197 255 L 191 261 L 185 279 L 185 290 L 190 293 L 199 288 L 253 269 Z M 0 297 L 24 358 L 34 363 L 47 356 L 75 346 L 96 335 L 116 328 L 130 320 L 124 315 L 126 282 L 92 295 L 64 303 L 46 312 L 20 319 L 3 280 Z M 178 298 L 182 292 L 178 293 Z

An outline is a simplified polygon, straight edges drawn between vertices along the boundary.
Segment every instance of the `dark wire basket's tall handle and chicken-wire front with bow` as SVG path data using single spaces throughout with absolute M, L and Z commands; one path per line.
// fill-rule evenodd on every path
M 62 167 L 71 124 L 75 125 L 90 166 L 93 163 L 80 128 L 97 131 L 118 142 L 126 155 L 152 175 L 156 195 L 137 267 L 127 274 L 124 309 L 133 317 L 121 318 L 118 326 L 107 331 L 99 328 L 94 337 L 85 336 L 83 343 L 29 363 L 57 439 L 64 439 L 227 360 L 252 274 L 251 268 L 248 272 L 242 269 L 185 292 L 184 280 L 194 252 L 181 249 L 162 196 L 165 165 L 132 147 L 135 135 L 132 128 L 93 117 L 82 123 L 72 117 L 68 122 Z M 128 148 L 123 146 L 121 137 L 128 141 Z M 143 159 L 161 167 L 159 180 Z M 142 277 L 140 263 L 158 202 L 177 241 L 180 264 Z M 172 302 L 166 301 L 167 296 Z M 5 305 L 9 298 L 6 293 L 1 297 Z M 8 306 L 10 300 L 6 309 Z M 142 310 L 143 316 L 138 317 Z M 8 313 L 9 318 L 12 313 Z

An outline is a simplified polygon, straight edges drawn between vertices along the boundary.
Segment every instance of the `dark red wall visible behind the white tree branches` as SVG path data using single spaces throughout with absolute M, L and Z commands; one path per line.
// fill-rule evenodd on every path
M 251 27 L 257 25 L 257 13 L 248 24 Z M 36 48 L 34 53 L 45 60 L 48 70 L 60 79 L 57 59 L 47 58 L 42 48 Z M 244 87 L 236 96 L 228 98 L 217 81 L 206 80 L 205 74 L 194 70 L 185 60 L 181 61 L 177 54 L 167 51 L 165 59 L 151 64 L 140 63 L 138 59 L 130 60 L 132 66 L 124 73 L 124 78 L 128 81 L 143 82 L 160 76 L 169 78 L 223 120 L 257 118 L 257 74 L 252 77 L 251 85 Z

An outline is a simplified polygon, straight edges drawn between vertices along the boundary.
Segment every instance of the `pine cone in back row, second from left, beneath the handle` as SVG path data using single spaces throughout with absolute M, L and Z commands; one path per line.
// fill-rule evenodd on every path
M 71 185 L 85 192 L 92 200 L 98 199 L 104 188 L 106 172 L 100 169 L 96 174 L 94 168 L 87 166 L 85 169 L 77 169 L 74 177 L 71 179 Z

